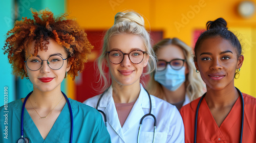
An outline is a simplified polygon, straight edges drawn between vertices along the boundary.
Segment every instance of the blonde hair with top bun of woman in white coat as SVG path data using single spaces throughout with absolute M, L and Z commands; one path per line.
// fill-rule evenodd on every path
M 156 56 L 152 49 L 150 34 L 146 31 L 144 27 L 144 19 L 137 12 L 118 12 L 115 15 L 114 25 L 106 31 L 104 36 L 103 48 L 101 55 L 98 58 L 98 70 L 97 74 L 99 75 L 99 92 L 107 89 L 111 84 L 111 75 L 110 72 L 105 72 L 107 67 L 106 55 L 105 52 L 108 50 L 110 38 L 118 34 L 134 34 L 139 35 L 143 39 L 143 43 L 149 56 L 147 71 L 142 74 L 142 76 L 152 73 L 156 68 Z

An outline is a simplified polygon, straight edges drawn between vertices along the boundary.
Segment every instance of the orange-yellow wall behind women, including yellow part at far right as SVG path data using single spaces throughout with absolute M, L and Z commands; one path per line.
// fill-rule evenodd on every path
M 243 38 L 241 41 L 246 43 L 245 63 L 235 85 L 242 92 L 256 97 L 256 58 L 253 58 L 256 55 L 256 14 L 250 18 L 242 18 L 237 12 L 240 2 L 241 0 L 67 0 L 67 11 L 85 29 L 105 30 L 113 25 L 117 12 L 133 9 L 144 16 L 149 30 L 162 30 L 164 38 L 178 37 L 191 46 L 195 38 L 194 30 L 205 29 L 208 20 L 223 17 L 228 22 L 228 27 L 246 37 L 245 41 Z

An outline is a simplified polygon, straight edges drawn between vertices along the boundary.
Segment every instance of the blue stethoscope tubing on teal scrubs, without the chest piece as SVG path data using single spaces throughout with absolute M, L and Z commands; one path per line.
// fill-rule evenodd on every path
M 21 122 L 20 122 L 20 127 L 21 127 L 21 129 L 20 129 L 20 135 L 21 135 L 21 138 L 24 138 L 24 128 L 23 128 L 23 122 L 24 122 L 24 110 L 25 110 L 25 105 L 26 105 L 26 102 L 27 102 L 27 100 L 28 100 L 28 98 L 29 98 L 29 96 L 30 96 L 30 94 L 32 93 L 33 91 L 31 91 L 28 95 L 27 95 L 27 97 L 25 98 L 25 100 L 24 100 L 24 102 L 23 102 L 23 105 L 22 105 L 22 120 L 21 120 Z M 66 96 L 66 94 L 65 93 L 63 93 L 62 91 L 61 91 L 61 93 L 63 94 L 63 96 L 65 97 L 65 99 L 66 99 L 66 101 L 67 101 L 67 103 L 68 103 L 68 106 L 69 106 L 69 112 L 70 112 L 70 120 L 71 120 L 71 132 L 70 132 L 70 143 L 72 143 L 72 139 L 73 139 L 73 113 L 72 113 L 72 108 L 71 108 L 71 104 L 70 104 L 70 102 L 69 102 L 69 99 L 68 99 L 68 97 Z M 24 139 L 25 140 L 25 139 Z

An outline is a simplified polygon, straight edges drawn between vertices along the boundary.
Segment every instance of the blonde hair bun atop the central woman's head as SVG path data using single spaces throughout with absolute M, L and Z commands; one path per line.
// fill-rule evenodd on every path
M 134 12 L 134 11 L 118 12 L 115 15 L 114 25 L 116 25 L 119 22 L 123 22 L 123 21 L 135 22 L 138 25 L 144 27 L 144 18 L 142 16 L 140 16 L 139 13 Z

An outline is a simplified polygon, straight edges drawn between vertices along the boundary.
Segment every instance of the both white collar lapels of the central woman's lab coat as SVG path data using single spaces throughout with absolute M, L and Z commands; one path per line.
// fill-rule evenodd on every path
M 149 113 L 150 110 L 150 99 L 148 98 L 148 94 L 144 87 L 140 84 L 140 93 L 139 97 L 134 103 L 134 106 L 129 113 L 129 115 L 126 118 L 126 121 L 121 127 L 120 123 L 118 124 L 117 122 L 119 121 L 118 114 L 116 111 L 114 99 L 112 97 L 112 92 L 113 92 L 113 87 L 110 86 L 110 88 L 104 93 L 102 99 L 100 100 L 99 107 L 100 108 L 105 108 L 103 111 L 106 114 L 106 118 L 110 124 L 110 126 L 115 130 L 115 132 L 123 139 L 124 139 L 124 134 L 126 131 L 129 129 L 132 129 L 135 124 L 138 124 L 139 127 L 139 122 L 141 118 Z M 151 96 L 151 102 L 152 102 L 152 109 L 156 108 L 156 103 L 155 103 L 155 98 Z M 148 109 L 145 110 L 144 109 Z M 125 142 L 125 141 L 124 141 Z

